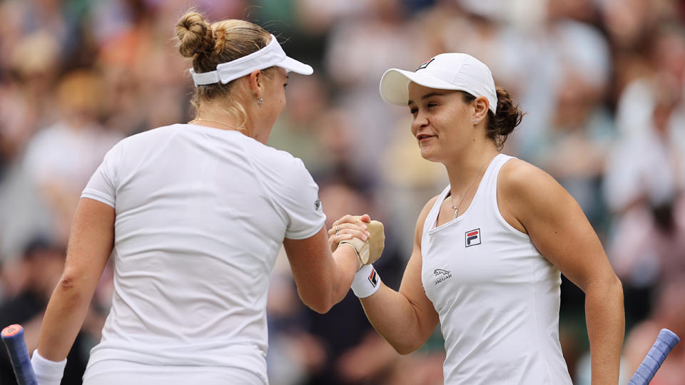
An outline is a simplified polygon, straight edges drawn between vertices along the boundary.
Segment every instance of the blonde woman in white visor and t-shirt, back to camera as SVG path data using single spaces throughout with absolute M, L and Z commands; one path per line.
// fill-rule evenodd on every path
M 345 297 L 357 271 L 355 249 L 337 246 L 366 240 L 365 225 L 349 217 L 356 225 L 329 240 L 303 163 L 265 145 L 287 71 L 312 68 L 247 21 L 190 12 L 176 34 L 193 58 L 198 117 L 122 140 L 83 190 L 32 359 L 41 385 L 59 384 L 110 255 L 112 309 L 84 384 L 267 384 L 266 295 L 280 246 L 318 312 Z

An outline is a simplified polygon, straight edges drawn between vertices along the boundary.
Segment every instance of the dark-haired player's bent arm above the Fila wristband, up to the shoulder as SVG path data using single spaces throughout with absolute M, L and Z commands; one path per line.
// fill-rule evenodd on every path
M 423 223 L 436 199 L 434 197 L 423 207 L 417 220 L 414 250 L 400 291 L 395 292 L 381 283 L 377 292 L 360 299 L 373 327 L 400 354 L 409 354 L 422 347 L 440 320 L 421 282 Z

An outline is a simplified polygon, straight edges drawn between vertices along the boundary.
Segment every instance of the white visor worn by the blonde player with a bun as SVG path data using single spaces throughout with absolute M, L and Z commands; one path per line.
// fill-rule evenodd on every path
M 285 71 L 293 71 L 303 75 L 311 75 L 314 72 L 311 66 L 286 56 L 285 51 L 283 51 L 275 36 L 271 35 L 271 41 L 259 51 L 228 63 L 220 63 L 216 66 L 216 71 L 196 73 L 191 68 L 191 75 L 196 86 L 218 82 L 225 84 L 248 73 L 252 73 L 252 71 L 273 66 L 285 68 Z

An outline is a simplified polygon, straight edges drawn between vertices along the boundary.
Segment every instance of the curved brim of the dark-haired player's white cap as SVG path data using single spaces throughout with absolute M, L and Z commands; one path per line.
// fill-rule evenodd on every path
M 405 71 L 390 68 L 380 78 L 380 97 L 386 103 L 407 106 L 409 102 L 409 83 L 414 82 L 428 88 L 439 90 L 457 90 L 454 84 L 447 83 L 440 78 L 425 72 Z

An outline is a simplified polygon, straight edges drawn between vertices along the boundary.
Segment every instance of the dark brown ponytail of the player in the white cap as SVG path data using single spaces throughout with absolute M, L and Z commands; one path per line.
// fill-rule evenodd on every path
M 475 96 L 463 92 L 464 101 L 470 103 L 475 100 Z M 521 119 L 525 115 L 519 110 L 519 105 L 514 104 L 512 96 L 502 87 L 497 87 L 497 114 L 487 111 L 487 129 L 485 135 L 497 145 L 497 150 L 502 150 L 507 136 L 512 133 L 517 125 L 521 124 Z

